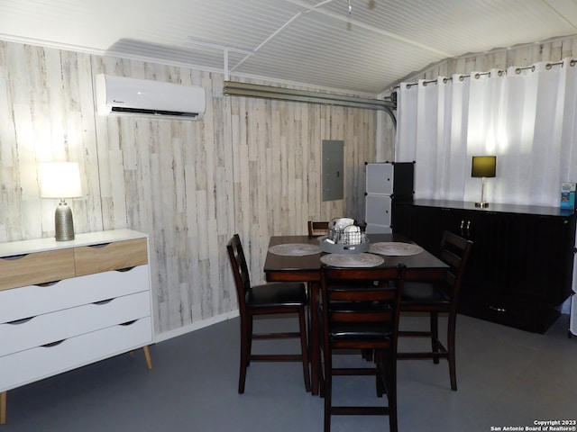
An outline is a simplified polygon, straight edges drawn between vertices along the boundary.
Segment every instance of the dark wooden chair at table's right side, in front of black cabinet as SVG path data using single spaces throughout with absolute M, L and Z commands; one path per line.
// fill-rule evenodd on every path
M 430 338 L 431 351 L 399 352 L 398 359 L 432 358 L 435 364 L 440 358 L 449 363 L 451 390 L 457 390 L 455 370 L 455 331 L 457 320 L 457 302 L 463 281 L 463 274 L 472 241 L 459 237 L 450 231 L 444 231 L 441 241 L 441 259 L 448 265 L 444 279 L 435 282 L 407 281 L 401 301 L 402 312 L 425 312 L 429 317 L 426 330 L 399 330 L 400 338 Z M 446 314 L 446 347 L 439 339 L 439 314 Z M 402 320 L 401 320 L 402 322 Z

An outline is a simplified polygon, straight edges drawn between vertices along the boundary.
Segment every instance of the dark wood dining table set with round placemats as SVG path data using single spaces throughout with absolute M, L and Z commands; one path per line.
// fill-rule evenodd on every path
M 377 242 L 402 242 L 413 243 L 408 238 L 398 234 L 368 234 L 371 243 Z M 319 238 L 308 236 L 273 236 L 270 238 L 269 247 L 289 244 L 318 245 Z M 312 394 L 319 391 L 319 367 L 320 367 L 320 338 L 319 322 L 315 313 L 319 302 L 319 284 L 321 279 L 321 257 L 324 252 L 312 255 L 292 256 L 267 253 L 264 262 L 264 273 L 268 282 L 305 282 L 309 286 L 309 346 L 311 363 Z M 444 277 L 447 265 L 443 261 L 423 250 L 416 255 L 407 256 L 383 256 L 384 262 L 380 266 L 393 267 L 403 263 L 407 266 L 407 280 L 436 280 Z

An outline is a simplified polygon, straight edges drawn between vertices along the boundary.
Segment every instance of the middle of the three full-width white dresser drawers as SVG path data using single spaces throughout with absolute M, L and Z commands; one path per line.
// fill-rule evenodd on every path
M 148 292 L 0 324 L 0 356 L 151 316 Z

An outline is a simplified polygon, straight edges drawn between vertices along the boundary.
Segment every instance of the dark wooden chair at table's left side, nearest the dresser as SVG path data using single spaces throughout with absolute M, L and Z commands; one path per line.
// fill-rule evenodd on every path
M 308 370 L 307 348 L 307 293 L 305 284 L 298 282 L 251 285 L 249 269 L 243 251 L 241 238 L 234 234 L 226 245 L 228 257 L 233 267 L 234 284 L 238 297 L 241 318 L 241 365 L 238 392 L 244 392 L 246 370 L 251 361 L 260 362 L 302 362 L 305 388 L 311 390 Z M 253 329 L 253 317 L 279 314 L 298 315 L 297 331 L 270 331 L 257 333 Z M 300 338 L 300 354 L 252 354 L 253 339 Z

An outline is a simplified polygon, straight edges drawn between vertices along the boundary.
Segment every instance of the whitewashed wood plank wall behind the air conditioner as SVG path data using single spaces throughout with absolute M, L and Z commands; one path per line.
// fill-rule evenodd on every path
M 98 73 L 201 85 L 204 119 L 98 116 Z M 371 110 L 229 98 L 219 74 L 13 42 L 0 42 L 0 77 L 0 241 L 54 235 L 57 201 L 41 200 L 38 166 L 78 161 L 76 231 L 150 234 L 157 335 L 237 309 L 225 254 L 234 232 L 260 283 L 270 235 L 306 234 L 309 219 L 362 219 Z M 321 202 L 323 139 L 344 140 L 345 200 Z

